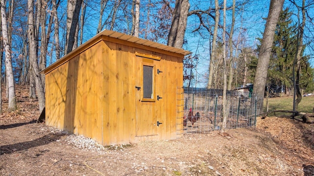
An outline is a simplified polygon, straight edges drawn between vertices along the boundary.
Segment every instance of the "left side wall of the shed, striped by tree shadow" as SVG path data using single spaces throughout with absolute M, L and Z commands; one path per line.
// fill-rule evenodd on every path
M 103 48 L 95 44 L 46 74 L 46 123 L 100 143 Z

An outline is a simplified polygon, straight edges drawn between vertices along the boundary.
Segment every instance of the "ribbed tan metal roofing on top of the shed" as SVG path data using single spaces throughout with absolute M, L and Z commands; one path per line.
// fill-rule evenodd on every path
M 117 38 L 117 39 L 121 39 L 121 40 L 124 40 L 124 41 L 132 42 L 132 43 L 135 43 L 135 44 L 143 44 L 143 45 L 154 47 L 154 48 L 157 48 L 157 49 L 162 49 L 162 50 L 166 50 L 166 51 L 170 51 L 170 52 L 174 52 L 174 53 L 183 54 L 184 56 L 188 55 L 188 54 L 191 54 L 190 51 L 186 51 L 186 50 L 181 49 L 181 48 L 176 48 L 176 47 L 167 46 L 167 45 L 164 45 L 164 44 L 159 44 L 159 43 L 156 43 L 156 42 L 152 42 L 152 41 L 145 40 L 145 39 L 140 39 L 140 38 L 137 38 L 137 37 L 133 37 L 133 36 L 130 36 L 130 35 L 127 35 L 127 34 L 123 34 L 123 33 L 120 33 L 120 32 L 115 32 L 115 31 L 111 31 L 111 30 L 103 30 L 102 32 L 100 32 L 96 36 L 98 36 L 98 35 L 104 35 L 104 36 L 108 36 L 108 37 L 112 37 L 112 38 Z

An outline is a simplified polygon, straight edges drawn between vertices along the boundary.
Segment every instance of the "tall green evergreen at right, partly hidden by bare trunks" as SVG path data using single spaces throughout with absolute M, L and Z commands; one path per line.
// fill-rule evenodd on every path
M 285 9 L 281 12 L 277 23 L 274 43 L 270 55 L 267 85 L 270 91 L 283 90 L 285 93 L 292 93 L 292 66 L 297 50 L 297 26 L 291 19 L 292 13 Z M 258 39 L 261 41 L 261 39 Z M 305 46 L 304 46 L 305 47 Z M 257 50 L 259 51 L 260 45 Z M 303 55 L 303 50 L 302 54 Z M 256 60 L 252 60 L 250 69 L 256 69 Z M 309 57 L 304 56 L 301 62 L 302 75 L 300 88 L 306 92 L 314 90 L 314 69 L 310 67 Z M 255 73 L 254 71 L 252 71 Z

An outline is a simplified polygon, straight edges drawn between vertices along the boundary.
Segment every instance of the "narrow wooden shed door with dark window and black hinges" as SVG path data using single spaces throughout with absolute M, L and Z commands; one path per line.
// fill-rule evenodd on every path
M 136 56 L 135 134 L 158 135 L 156 114 L 157 60 Z

